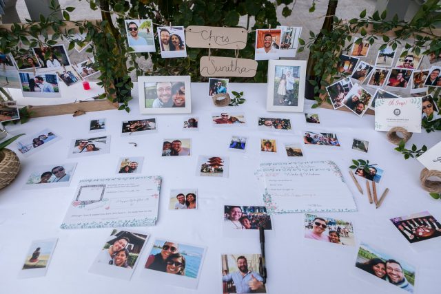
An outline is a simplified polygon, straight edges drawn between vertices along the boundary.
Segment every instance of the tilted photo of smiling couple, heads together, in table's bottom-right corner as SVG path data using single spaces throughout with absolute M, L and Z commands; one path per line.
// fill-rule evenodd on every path
M 373 249 L 372 246 L 362 243 L 358 249 L 356 267 L 388 284 L 413 293 L 416 268 L 404 260 L 398 260 L 392 255 L 382 253 Z

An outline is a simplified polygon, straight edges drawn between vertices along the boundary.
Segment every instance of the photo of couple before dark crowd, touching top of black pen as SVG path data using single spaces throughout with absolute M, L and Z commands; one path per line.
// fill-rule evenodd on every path
M 225 205 L 223 226 L 232 230 L 272 230 L 271 217 L 266 207 Z

